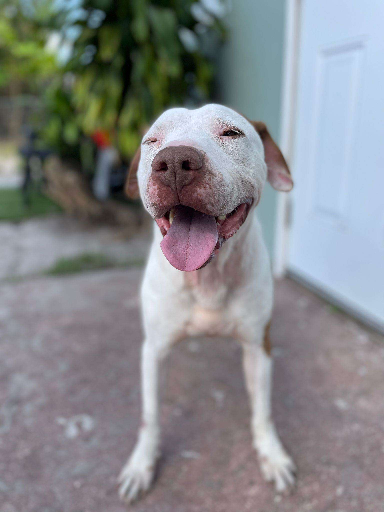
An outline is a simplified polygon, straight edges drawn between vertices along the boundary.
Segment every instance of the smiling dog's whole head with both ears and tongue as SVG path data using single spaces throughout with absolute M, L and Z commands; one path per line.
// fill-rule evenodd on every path
M 218 253 L 258 204 L 268 179 L 289 191 L 288 166 L 264 123 L 222 105 L 171 109 L 146 133 L 126 183 L 162 234 L 179 270 L 196 270 Z

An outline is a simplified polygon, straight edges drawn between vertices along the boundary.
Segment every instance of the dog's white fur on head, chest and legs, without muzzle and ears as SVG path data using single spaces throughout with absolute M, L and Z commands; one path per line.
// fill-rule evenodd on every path
M 220 138 L 224 128 L 238 127 L 245 137 Z M 156 138 L 157 142 L 146 142 Z M 223 175 L 226 207 L 237 207 L 253 187 L 255 203 L 266 181 L 261 139 L 240 114 L 221 106 L 206 105 L 188 111 L 165 112 L 144 137 L 138 170 L 140 194 L 147 198 L 151 163 L 167 145 L 189 144 L 209 158 Z M 273 285 L 268 253 L 254 210 L 219 255 L 195 274 L 191 284 L 165 259 L 161 232 L 154 226 L 154 240 L 145 270 L 141 302 L 145 342 L 142 351 L 143 425 L 135 450 L 120 475 L 120 496 L 134 501 L 150 487 L 160 454 L 158 374 L 160 362 L 179 339 L 188 335 L 232 336 L 242 343 L 244 371 L 252 409 L 253 445 L 266 480 L 281 492 L 294 483 L 294 464 L 285 452 L 271 418 L 272 361 L 263 349 L 265 327 L 270 321 Z M 188 281 L 189 280 L 189 281 Z

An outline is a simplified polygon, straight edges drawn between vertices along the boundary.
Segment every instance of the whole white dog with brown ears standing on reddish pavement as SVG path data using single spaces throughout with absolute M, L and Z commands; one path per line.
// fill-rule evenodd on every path
M 231 336 L 243 346 L 253 446 L 278 492 L 294 484 L 295 466 L 271 418 L 269 327 L 273 283 L 254 208 L 268 179 L 293 182 L 265 124 L 221 105 L 172 109 L 147 132 L 127 180 L 155 219 L 142 285 L 142 425 L 123 468 L 120 496 L 147 491 L 160 456 L 159 365 L 187 336 Z

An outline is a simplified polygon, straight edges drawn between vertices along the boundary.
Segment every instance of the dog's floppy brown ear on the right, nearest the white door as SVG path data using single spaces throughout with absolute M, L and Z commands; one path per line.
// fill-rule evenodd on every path
M 292 190 L 293 181 L 282 152 L 270 136 L 268 129 L 263 122 L 251 121 L 251 123 L 260 135 L 264 145 L 265 163 L 268 168 L 269 183 L 276 190 L 289 192 Z

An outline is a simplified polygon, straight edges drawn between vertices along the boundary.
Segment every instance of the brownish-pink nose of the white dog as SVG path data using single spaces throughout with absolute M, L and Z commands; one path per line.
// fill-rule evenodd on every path
M 155 156 L 152 162 L 152 174 L 159 178 L 161 173 L 163 179 L 165 175 L 177 174 L 177 180 L 184 181 L 187 175 L 193 174 L 191 171 L 199 170 L 203 166 L 201 153 L 192 146 L 168 146 Z M 169 176 L 169 178 L 171 178 Z M 174 178 L 171 178 L 174 179 Z M 193 179 L 193 176 L 189 176 Z

